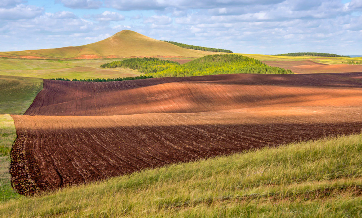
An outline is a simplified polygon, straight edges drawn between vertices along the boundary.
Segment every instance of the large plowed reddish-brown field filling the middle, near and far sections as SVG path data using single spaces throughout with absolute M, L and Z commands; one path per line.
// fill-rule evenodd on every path
M 18 138 L 22 194 L 251 148 L 359 133 L 362 73 L 45 80 Z

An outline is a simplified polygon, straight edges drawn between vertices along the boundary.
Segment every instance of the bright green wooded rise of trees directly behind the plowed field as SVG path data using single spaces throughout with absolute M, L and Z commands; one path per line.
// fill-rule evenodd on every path
M 129 59 L 126 59 L 129 60 Z M 120 62 L 126 62 L 122 60 Z M 192 60 L 185 64 L 177 62 L 168 62 L 164 66 L 163 60 L 158 58 L 139 58 L 138 60 L 127 61 L 128 65 L 122 63 L 107 63 L 106 66 L 129 66 L 130 62 L 137 63 L 134 69 L 145 73 L 146 76 L 152 77 L 182 77 L 182 76 L 202 76 L 215 74 L 292 74 L 290 70 L 285 70 L 279 67 L 270 67 L 260 60 L 249 58 L 243 55 L 236 54 L 215 54 L 207 55 L 202 58 Z M 152 72 L 143 67 L 148 66 Z M 152 65 L 154 64 L 154 65 Z M 161 65 L 161 67 L 160 67 Z

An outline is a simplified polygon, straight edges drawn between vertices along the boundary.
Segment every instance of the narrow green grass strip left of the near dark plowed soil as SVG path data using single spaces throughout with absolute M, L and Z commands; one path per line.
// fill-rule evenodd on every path
M 9 114 L 0 114 L 0 202 L 20 197 L 10 184 L 10 150 L 16 139 L 13 118 Z

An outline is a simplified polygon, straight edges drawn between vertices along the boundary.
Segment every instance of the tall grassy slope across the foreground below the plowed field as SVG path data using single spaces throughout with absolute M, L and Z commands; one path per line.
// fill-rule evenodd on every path
M 362 135 L 147 169 L 0 205 L 3 217 L 358 217 Z

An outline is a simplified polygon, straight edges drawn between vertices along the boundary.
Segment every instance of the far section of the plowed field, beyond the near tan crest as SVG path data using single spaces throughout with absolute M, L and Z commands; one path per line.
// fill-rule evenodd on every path
M 261 106 L 359 106 L 362 73 L 233 74 L 114 82 L 44 80 L 25 115 L 197 113 Z M 359 78 L 359 79 L 358 79 Z

